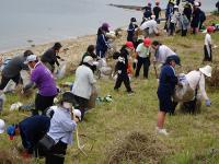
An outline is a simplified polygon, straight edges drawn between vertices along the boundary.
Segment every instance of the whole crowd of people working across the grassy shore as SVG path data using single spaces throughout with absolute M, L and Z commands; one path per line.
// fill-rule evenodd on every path
M 178 20 L 178 8 L 176 7 L 180 1 L 176 1 L 173 5 L 172 0 L 168 4 L 166 21 L 169 23 L 166 23 L 166 26 L 169 26 L 170 35 L 175 30 L 176 22 L 174 21 Z M 198 8 L 199 4 L 197 5 L 196 2 L 193 4 L 194 10 L 192 12 L 192 9 L 187 9 L 191 4 L 186 3 L 183 14 L 180 14 L 183 16 L 180 22 L 182 23 L 184 19 L 187 19 L 195 33 L 198 27 L 197 24 L 199 25 L 200 23 L 200 20 L 197 23 L 195 19 L 200 17 L 200 10 Z M 135 78 L 139 78 L 141 67 L 143 66 L 143 78 L 148 79 L 151 61 L 154 67 L 159 65 L 160 71 L 157 72 L 158 70 L 155 69 L 157 79 L 159 79 L 157 91 L 159 99 L 157 131 L 161 134 L 168 134 L 164 129 L 165 115 L 166 113 L 173 114 L 178 102 L 196 101 L 197 90 L 199 89 L 206 105 L 210 106 L 210 98 L 205 91 L 205 78 L 211 77 L 211 67 L 206 66 L 184 74 L 183 78 L 182 75 L 177 77 L 175 67 L 181 65 L 178 55 L 159 40 L 151 39 L 152 33 L 159 34 L 157 26 L 160 23 L 159 16 L 161 12 L 159 2 L 155 2 L 153 11 L 151 3 L 142 8 L 142 10 L 145 10 L 143 22 L 138 27 L 137 20 L 135 17 L 130 19 L 127 30 L 127 42 L 120 47 L 119 51 L 114 54 L 114 73 L 116 74 L 114 91 L 118 91 L 122 83 L 124 83 L 128 95 L 132 94 L 134 91 L 130 85 L 131 71 L 129 69 L 134 69 Z M 186 30 L 183 27 L 184 25 L 183 23 L 181 24 L 182 35 L 186 35 L 187 31 L 187 27 Z M 139 39 L 138 35 L 136 35 L 138 30 L 143 31 L 142 39 Z M 204 61 L 212 61 L 211 32 L 214 32 L 214 28 L 207 27 Z M 72 131 L 77 128 L 77 122 L 83 120 L 85 112 L 89 109 L 89 99 L 95 91 L 96 80 L 94 72 L 99 65 L 96 61 L 105 58 L 106 51 L 112 48 L 107 33 L 110 33 L 110 25 L 103 23 L 97 30 L 96 46 L 88 46 L 76 70 L 76 79 L 71 90 L 62 93 L 61 99 L 56 106 L 53 106 L 54 98 L 60 90 L 56 85 L 54 72 L 56 66 L 59 66 L 59 60 L 62 60 L 58 55 L 62 47 L 60 43 L 55 43 L 51 48 L 43 54 L 41 59 L 33 51 L 26 50 L 23 55 L 12 58 L 5 65 L 1 74 L 1 92 L 10 80 L 13 80 L 16 84 L 21 82 L 21 70 L 30 72 L 30 83 L 23 86 L 22 93 L 32 87 L 38 89 L 35 96 L 35 109 L 32 110 L 32 116 L 7 128 L 11 140 L 14 136 L 21 136 L 24 147 L 23 156 L 27 157 L 34 153 L 36 156 L 46 156 L 47 164 L 64 163 L 67 145 L 72 143 Z M 151 60 L 152 51 L 154 51 L 154 55 Z M 176 85 L 184 89 L 184 94 L 181 97 L 175 94 Z M 184 95 L 188 93 L 189 98 L 184 98 Z M 177 97 L 174 98 L 175 96 Z M 79 109 L 76 109 L 76 107 Z M 0 133 L 4 131 L 3 127 L 4 121 L 0 119 Z

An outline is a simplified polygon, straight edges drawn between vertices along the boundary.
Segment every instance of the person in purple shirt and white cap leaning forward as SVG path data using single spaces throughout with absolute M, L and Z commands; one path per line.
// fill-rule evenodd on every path
M 31 55 L 26 58 L 26 61 L 31 70 L 31 83 L 27 84 L 23 92 L 26 92 L 33 85 L 38 87 L 38 93 L 35 97 L 35 109 L 33 115 L 38 115 L 38 110 L 43 114 L 45 109 L 54 104 L 54 98 L 57 95 L 56 82 L 51 72 L 38 61 L 36 55 Z

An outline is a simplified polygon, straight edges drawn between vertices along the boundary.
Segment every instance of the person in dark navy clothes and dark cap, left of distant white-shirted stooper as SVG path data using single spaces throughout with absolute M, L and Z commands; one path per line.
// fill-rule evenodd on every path
M 131 42 L 134 44 L 134 46 L 137 44 L 137 37 L 136 36 L 136 31 L 138 28 L 138 25 L 136 24 L 137 20 L 136 17 L 131 17 L 130 19 L 130 24 L 128 25 L 128 30 L 127 30 L 127 42 Z

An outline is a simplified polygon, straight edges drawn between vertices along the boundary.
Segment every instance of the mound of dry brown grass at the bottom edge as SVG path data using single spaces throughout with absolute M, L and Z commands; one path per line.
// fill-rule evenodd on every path
M 154 164 L 160 163 L 166 153 L 170 153 L 170 151 L 155 136 L 131 132 L 124 139 L 113 143 L 113 147 L 107 150 L 105 163 L 147 162 Z

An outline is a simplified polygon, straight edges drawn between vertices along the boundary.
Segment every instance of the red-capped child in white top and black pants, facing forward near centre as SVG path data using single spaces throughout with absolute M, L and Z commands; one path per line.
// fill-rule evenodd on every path
M 139 44 L 136 52 L 137 52 L 137 68 L 136 68 L 136 74 L 135 77 L 139 77 L 139 72 L 141 69 L 141 66 L 143 65 L 143 78 L 148 79 L 148 71 L 150 67 L 150 46 L 151 46 L 151 39 L 149 37 L 143 39 L 143 43 Z

